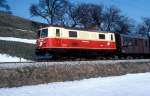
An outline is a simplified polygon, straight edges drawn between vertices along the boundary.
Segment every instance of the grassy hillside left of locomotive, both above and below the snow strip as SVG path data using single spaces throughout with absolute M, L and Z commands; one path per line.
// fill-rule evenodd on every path
M 36 30 L 39 26 L 46 26 L 46 24 L 0 13 L 0 37 L 36 39 Z M 0 54 L 33 60 L 34 49 L 34 44 L 0 40 Z

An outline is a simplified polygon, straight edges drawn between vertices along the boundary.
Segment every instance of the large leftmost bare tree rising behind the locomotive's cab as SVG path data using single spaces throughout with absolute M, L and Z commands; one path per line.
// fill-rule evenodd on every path
M 39 0 L 38 4 L 30 6 L 30 13 L 46 19 L 49 24 L 60 24 L 67 6 L 68 0 Z

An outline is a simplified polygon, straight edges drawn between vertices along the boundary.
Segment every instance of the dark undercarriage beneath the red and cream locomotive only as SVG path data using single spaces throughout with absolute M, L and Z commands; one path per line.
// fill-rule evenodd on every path
M 89 50 L 89 49 L 37 49 L 38 59 L 111 59 L 115 50 Z M 42 57 L 42 58 L 41 58 Z

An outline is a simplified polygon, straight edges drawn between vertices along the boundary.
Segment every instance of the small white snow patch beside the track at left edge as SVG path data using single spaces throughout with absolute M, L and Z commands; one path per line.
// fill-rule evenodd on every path
M 25 62 L 27 60 L 18 57 L 12 57 L 7 54 L 0 54 L 0 62 L 20 62 L 20 61 Z

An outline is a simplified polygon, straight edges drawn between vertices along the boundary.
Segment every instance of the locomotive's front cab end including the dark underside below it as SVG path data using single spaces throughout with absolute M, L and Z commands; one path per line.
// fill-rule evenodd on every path
M 61 28 L 60 27 L 45 27 L 37 32 L 36 51 L 35 54 L 49 54 L 54 47 L 61 44 Z

